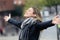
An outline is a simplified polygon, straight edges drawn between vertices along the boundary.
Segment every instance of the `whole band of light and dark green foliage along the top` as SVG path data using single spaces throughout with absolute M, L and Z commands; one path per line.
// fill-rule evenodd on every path
M 35 6 L 39 9 L 46 6 L 49 8 L 49 12 L 51 13 L 51 6 L 55 6 L 57 12 L 57 5 L 60 4 L 60 0 L 26 0 L 25 1 L 25 9 Z

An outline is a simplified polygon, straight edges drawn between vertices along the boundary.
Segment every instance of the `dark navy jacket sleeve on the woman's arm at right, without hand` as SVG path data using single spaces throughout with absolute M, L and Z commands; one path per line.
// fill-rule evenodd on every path
M 51 26 L 54 26 L 55 24 L 52 24 L 52 20 L 50 21 L 47 21 L 47 22 L 39 22 L 39 21 L 36 21 L 35 25 L 37 28 L 39 28 L 40 30 L 42 29 L 46 29 L 48 27 L 51 27 Z

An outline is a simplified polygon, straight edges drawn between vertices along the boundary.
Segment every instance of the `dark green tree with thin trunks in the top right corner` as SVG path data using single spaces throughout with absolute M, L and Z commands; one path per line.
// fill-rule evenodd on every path
M 60 0 L 45 0 L 45 1 L 46 1 L 45 6 L 49 7 L 50 13 L 51 13 L 51 6 L 55 6 L 56 13 L 58 13 L 57 12 L 57 5 L 60 4 Z

